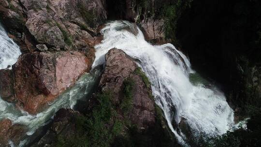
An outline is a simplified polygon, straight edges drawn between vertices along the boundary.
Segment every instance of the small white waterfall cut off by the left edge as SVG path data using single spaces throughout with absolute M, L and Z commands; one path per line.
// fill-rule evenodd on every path
M 20 48 L 10 39 L 0 24 L 0 69 L 12 66 L 21 55 Z

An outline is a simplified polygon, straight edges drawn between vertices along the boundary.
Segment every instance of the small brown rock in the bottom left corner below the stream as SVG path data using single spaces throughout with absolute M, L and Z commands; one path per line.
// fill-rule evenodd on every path
M 12 124 L 9 119 L 0 120 L 0 147 L 8 147 L 10 141 L 15 146 L 19 145 L 24 133 L 23 126 Z

